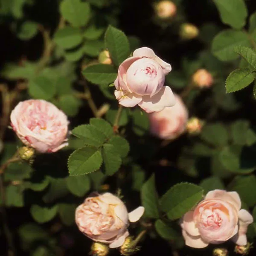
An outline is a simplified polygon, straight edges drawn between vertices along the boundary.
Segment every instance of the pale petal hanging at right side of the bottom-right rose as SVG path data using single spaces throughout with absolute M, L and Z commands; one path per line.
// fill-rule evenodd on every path
M 253 223 L 253 216 L 250 214 L 250 212 L 247 212 L 245 209 L 241 209 L 238 213 L 239 215 L 239 230 L 236 236 L 232 238 L 232 240 L 240 245 L 244 246 L 247 244 L 247 238 L 246 238 L 246 232 L 247 227 L 251 223 Z

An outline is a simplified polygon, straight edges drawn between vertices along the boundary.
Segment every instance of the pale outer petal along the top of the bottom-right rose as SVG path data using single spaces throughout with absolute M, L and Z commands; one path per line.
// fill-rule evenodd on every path
M 241 208 L 241 200 L 237 192 L 227 192 L 226 190 L 215 189 L 209 191 L 205 199 L 221 199 L 232 204 L 238 211 Z

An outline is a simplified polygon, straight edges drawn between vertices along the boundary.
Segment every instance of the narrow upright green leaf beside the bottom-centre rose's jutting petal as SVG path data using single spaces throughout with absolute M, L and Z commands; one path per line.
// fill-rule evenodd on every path
M 145 207 L 145 216 L 148 218 L 159 218 L 159 203 L 154 174 L 151 175 L 141 188 L 141 201 Z

